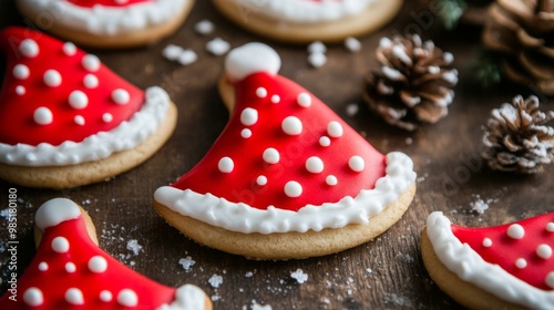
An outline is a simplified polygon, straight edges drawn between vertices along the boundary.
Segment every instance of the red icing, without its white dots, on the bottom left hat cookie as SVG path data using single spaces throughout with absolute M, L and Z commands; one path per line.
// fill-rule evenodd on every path
M 69 240 L 68 252 L 59 254 L 52 249 L 52 240 L 60 236 Z M 89 260 L 94 256 L 107 261 L 106 271 L 95 273 L 89 270 Z M 41 262 L 48 264 L 48 270 L 39 270 Z M 73 262 L 76 271 L 69 273 L 65 270 L 66 262 Z M 42 291 L 43 304 L 40 307 L 29 307 L 23 300 L 24 292 L 32 287 Z M 64 296 L 70 288 L 82 291 L 83 306 L 71 306 L 65 301 Z M 136 307 L 126 308 L 117 303 L 117 293 L 123 289 L 136 293 Z M 111 301 L 100 299 L 103 290 L 112 293 Z M 80 216 L 45 229 L 34 259 L 18 280 L 17 302 L 9 299 L 11 293 L 8 291 L 0 299 L 0 309 L 157 309 L 164 303 L 171 304 L 175 290 L 138 275 L 101 250 L 89 237 Z

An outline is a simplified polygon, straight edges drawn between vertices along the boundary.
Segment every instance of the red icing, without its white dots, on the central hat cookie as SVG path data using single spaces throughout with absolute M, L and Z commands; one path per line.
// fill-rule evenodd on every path
M 258 87 L 267 90 L 267 96 L 256 95 Z M 273 205 L 277 208 L 298 210 L 299 208 L 324 203 L 337 203 L 345 196 L 356 197 L 361 189 L 372 189 L 379 177 L 384 175 L 384 156 L 377 152 L 363 137 L 340 120 L 327 105 L 310 94 L 311 106 L 297 104 L 298 94 L 308 91 L 280 75 L 256 73 L 236 83 L 236 106 L 229 123 L 213 145 L 212 149 L 191 172 L 172 186 L 192 189 L 196 193 L 211 193 L 233 203 L 245 203 L 259 209 Z M 279 95 L 280 102 L 270 101 Z M 244 108 L 258 112 L 258 121 L 250 126 L 240 122 Z M 281 122 L 287 116 L 296 116 L 302 122 L 302 132 L 290 136 L 283 132 Z M 328 136 L 327 124 L 339 122 L 343 128 L 341 137 L 330 137 L 330 146 L 319 144 L 321 136 Z M 252 131 L 249 138 L 243 138 L 244 128 Z M 280 154 L 278 164 L 267 164 L 263 159 L 266 148 L 276 148 Z M 350 157 L 358 155 L 365 159 L 361 173 L 348 166 Z M 234 161 L 232 173 L 218 169 L 222 157 Z M 310 156 L 322 159 L 322 173 L 309 173 L 305 163 Z M 267 177 L 267 185 L 259 186 L 256 178 Z M 326 184 L 326 177 L 334 175 L 336 186 Z M 287 182 L 296 180 L 302 186 L 297 198 L 285 195 Z

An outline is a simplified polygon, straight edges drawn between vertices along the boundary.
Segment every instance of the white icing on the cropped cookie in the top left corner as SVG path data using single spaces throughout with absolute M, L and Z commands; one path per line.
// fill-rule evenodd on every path
M 127 7 L 83 8 L 63 0 L 19 0 L 44 20 L 98 35 L 143 30 L 164 23 L 181 12 L 189 0 L 153 0 Z

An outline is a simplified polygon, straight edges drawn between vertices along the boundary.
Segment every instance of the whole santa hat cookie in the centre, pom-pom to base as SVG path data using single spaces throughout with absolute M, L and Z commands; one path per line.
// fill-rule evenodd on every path
M 230 120 L 206 156 L 158 188 L 161 215 L 194 240 L 259 259 L 322 256 L 393 225 L 416 190 L 412 161 L 377 152 L 261 43 L 233 50 L 220 93 Z

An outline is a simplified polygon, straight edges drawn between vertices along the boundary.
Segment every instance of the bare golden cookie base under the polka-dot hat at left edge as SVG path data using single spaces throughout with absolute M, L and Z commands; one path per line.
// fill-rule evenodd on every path
M 0 163 L 0 178 L 10 183 L 42 188 L 70 188 L 103 182 L 130 170 L 156 153 L 170 138 L 177 123 L 177 107 L 172 102 L 160 127 L 134 148 L 110 157 L 69 166 L 29 167 Z

